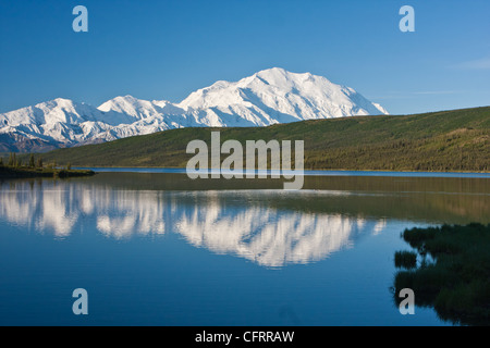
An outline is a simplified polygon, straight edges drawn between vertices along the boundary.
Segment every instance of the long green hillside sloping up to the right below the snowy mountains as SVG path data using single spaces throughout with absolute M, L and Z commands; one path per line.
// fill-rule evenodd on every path
M 269 127 L 181 128 L 54 150 L 45 163 L 185 167 L 188 141 L 220 130 L 221 141 L 304 140 L 305 169 L 490 171 L 490 107 L 416 115 L 357 116 Z M 222 156 L 222 160 L 226 156 Z

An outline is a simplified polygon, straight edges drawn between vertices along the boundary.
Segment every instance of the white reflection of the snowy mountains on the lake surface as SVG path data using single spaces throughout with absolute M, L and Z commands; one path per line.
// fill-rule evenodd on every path
M 384 226 L 383 221 L 269 208 L 261 202 L 270 195 L 264 190 L 159 192 L 52 183 L 4 185 L 2 219 L 61 237 L 76 224 L 114 238 L 175 232 L 194 246 L 266 266 L 324 259 L 352 246 L 362 232 L 377 233 Z

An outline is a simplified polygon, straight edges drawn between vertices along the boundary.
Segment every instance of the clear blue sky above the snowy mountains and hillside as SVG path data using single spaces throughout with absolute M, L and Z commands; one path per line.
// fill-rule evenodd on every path
M 72 10 L 88 9 L 88 33 Z M 415 33 L 399 10 L 415 9 Z M 490 104 L 490 1 L 2 0 L 0 112 L 58 97 L 179 102 L 280 66 L 392 114 Z

